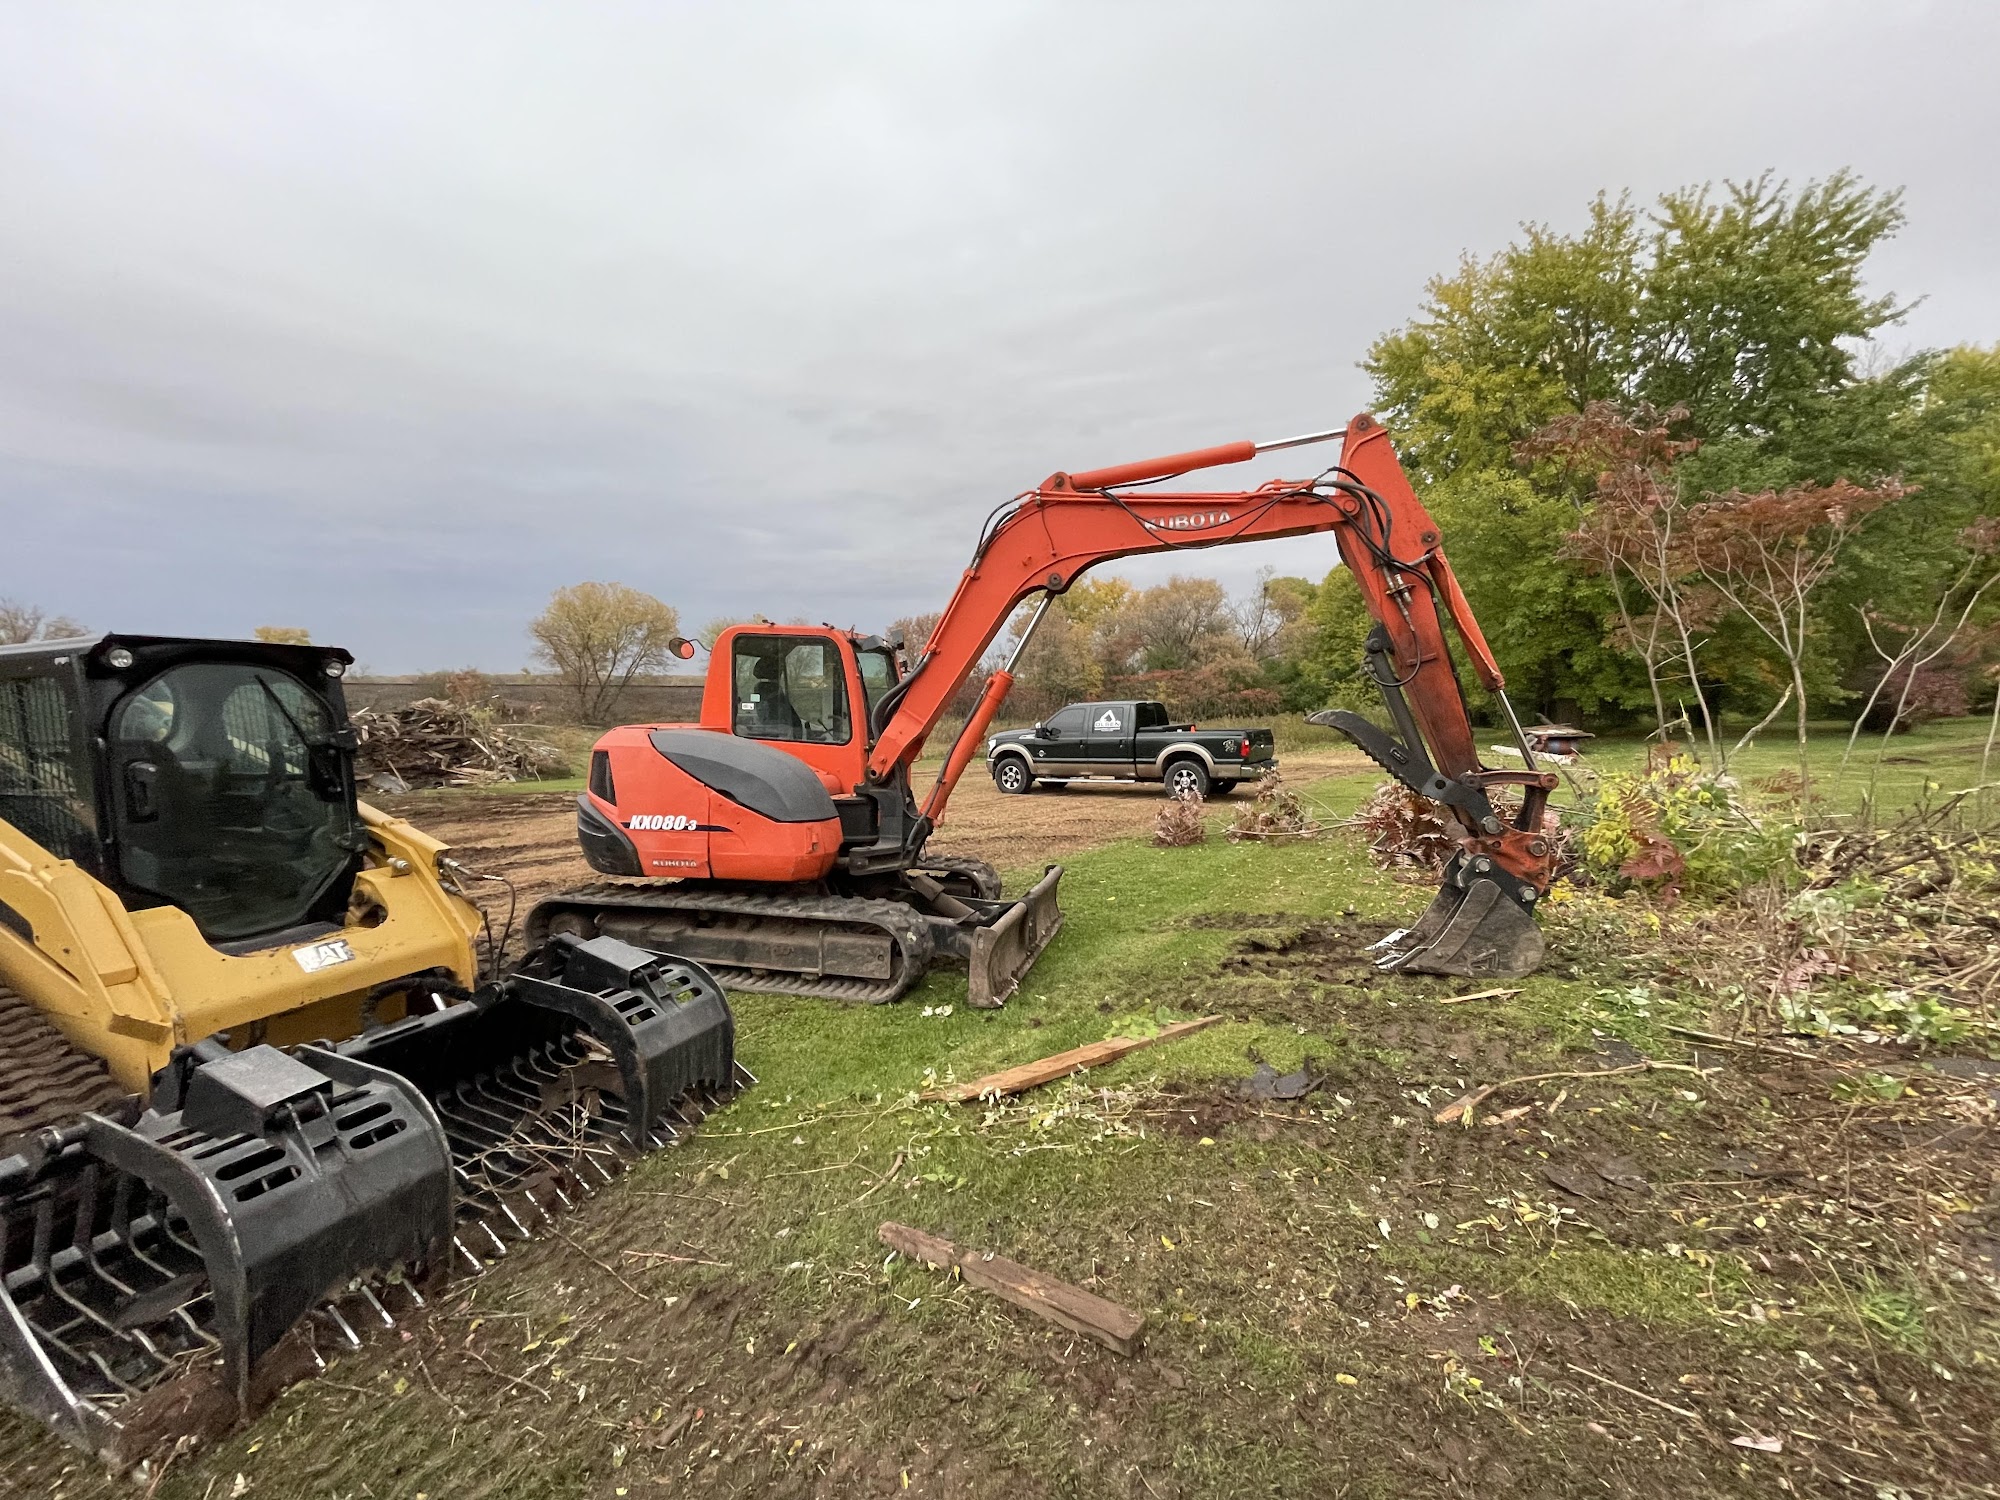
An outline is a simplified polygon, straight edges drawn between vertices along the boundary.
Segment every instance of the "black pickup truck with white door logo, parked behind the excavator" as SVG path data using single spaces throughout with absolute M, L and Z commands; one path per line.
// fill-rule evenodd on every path
M 1228 796 L 1276 764 L 1270 730 L 1168 724 L 1166 704 L 1134 700 L 1070 704 L 1032 730 L 986 740 L 986 768 L 1002 792 L 1108 778 L 1164 782 L 1168 796 Z

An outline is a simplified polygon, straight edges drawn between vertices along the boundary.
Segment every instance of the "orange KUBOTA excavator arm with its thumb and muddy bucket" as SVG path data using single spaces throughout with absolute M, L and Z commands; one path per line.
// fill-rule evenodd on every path
M 1340 462 L 1310 480 L 1272 480 L 1254 490 L 1138 488 L 1202 468 L 1240 464 L 1262 452 L 1342 440 Z M 908 774 L 952 694 L 1028 598 L 1042 602 L 1008 662 L 986 682 L 944 770 L 922 824 L 944 812 L 952 788 L 978 752 L 1014 682 L 1034 624 L 1054 596 L 1112 558 L 1182 548 L 1334 532 L 1354 572 L 1374 630 L 1366 666 L 1388 706 L 1394 732 L 1344 710 L 1316 714 L 1348 734 L 1372 760 L 1414 792 L 1438 802 L 1458 824 L 1460 850 L 1444 888 L 1416 928 L 1400 934 L 1384 966 L 1436 974 L 1514 976 L 1536 968 L 1542 938 L 1532 922 L 1546 894 L 1552 858 L 1542 812 L 1556 786 L 1534 766 L 1506 684 L 1466 596 L 1444 558 L 1438 524 L 1410 488 L 1388 432 L 1372 416 L 1344 430 L 1280 442 L 1232 442 L 1168 458 L 1082 474 L 1052 474 L 996 512 L 952 602 L 938 618 L 908 678 L 876 710 L 868 776 Z M 1480 764 L 1444 624 L 1464 642 L 1480 684 L 1502 704 L 1526 770 Z M 1490 792 L 1518 788 L 1520 812 L 1506 820 Z

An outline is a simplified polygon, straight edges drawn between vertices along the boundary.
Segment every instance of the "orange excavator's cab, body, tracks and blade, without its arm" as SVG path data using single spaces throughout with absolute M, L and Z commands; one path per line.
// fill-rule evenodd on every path
M 908 758 L 870 768 L 906 684 L 882 636 L 724 630 L 700 722 L 628 724 L 590 754 L 584 858 L 644 884 L 544 902 L 530 942 L 610 934 L 732 988 L 864 1002 L 962 966 L 970 1004 L 1006 1002 L 1062 926 L 1062 870 L 1004 900 L 990 864 L 926 850 L 942 804 L 918 808 Z

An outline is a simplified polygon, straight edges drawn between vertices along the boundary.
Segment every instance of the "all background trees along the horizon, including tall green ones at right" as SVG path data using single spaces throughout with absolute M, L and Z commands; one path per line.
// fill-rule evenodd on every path
M 1370 346 L 1374 408 L 1520 708 L 1636 724 L 1716 764 L 1776 722 L 1804 748 L 1812 716 L 1892 732 L 2000 708 L 2000 346 L 1884 352 L 1910 304 L 1866 270 L 1902 224 L 1900 194 L 1848 172 L 1644 208 L 1600 194 L 1578 226 L 1526 224 L 1432 278 Z M 896 628 L 914 654 L 934 624 Z M 56 626 L 74 630 L 0 610 L 0 640 Z M 530 636 L 594 720 L 676 666 L 676 630 L 650 594 L 574 584 Z M 1010 710 L 1370 708 L 1366 632 L 1340 568 L 1266 572 L 1234 600 L 1212 578 L 1086 578 L 1030 642 Z

